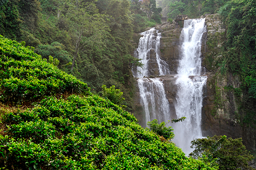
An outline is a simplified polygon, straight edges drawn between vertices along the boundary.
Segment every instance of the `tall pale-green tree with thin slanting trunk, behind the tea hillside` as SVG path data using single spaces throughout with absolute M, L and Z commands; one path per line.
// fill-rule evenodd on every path
M 92 45 L 102 44 L 105 30 L 108 27 L 104 24 L 104 17 L 98 13 L 96 5 L 92 2 L 84 3 L 82 0 L 70 1 L 67 16 L 72 24 L 72 29 L 70 30 L 74 35 L 75 43 L 72 71 L 79 50 L 87 43 L 93 43 Z

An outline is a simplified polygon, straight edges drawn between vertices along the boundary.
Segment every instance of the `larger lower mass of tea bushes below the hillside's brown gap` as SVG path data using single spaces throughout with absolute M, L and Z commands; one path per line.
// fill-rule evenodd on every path
M 3 121 L 9 126 L 0 135 L 0 168 L 215 169 L 98 95 L 51 96 L 33 109 L 7 112 Z

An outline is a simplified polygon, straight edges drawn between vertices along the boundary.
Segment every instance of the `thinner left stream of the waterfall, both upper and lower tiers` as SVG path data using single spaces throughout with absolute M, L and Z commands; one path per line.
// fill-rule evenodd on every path
M 137 67 L 133 70 L 134 77 L 138 77 L 138 87 L 140 92 L 140 102 L 144 111 L 145 124 L 153 119 L 159 122 L 168 120 L 169 103 L 166 99 L 163 83 L 160 78 L 142 78 L 151 75 L 149 64 L 150 60 L 157 63 L 158 75 L 169 74 L 168 64 L 160 58 L 160 39 L 161 33 L 152 28 L 141 33 L 138 48 L 135 51 L 135 57 L 141 59 L 143 68 Z M 156 56 L 152 57 L 151 52 L 154 51 Z M 155 76 L 155 75 L 154 75 Z M 144 125 L 145 126 L 145 125 Z

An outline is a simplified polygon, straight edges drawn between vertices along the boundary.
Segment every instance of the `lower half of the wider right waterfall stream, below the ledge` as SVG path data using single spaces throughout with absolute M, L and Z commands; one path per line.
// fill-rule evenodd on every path
M 205 93 L 207 76 L 180 76 L 177 78 L 177 103 L 175 105 L 177 117 L 185 116 L 182 123 L 173 124 L 174 142 L 189 154 L 190 141 L 202 138 L 201 117 L 203 98 Z

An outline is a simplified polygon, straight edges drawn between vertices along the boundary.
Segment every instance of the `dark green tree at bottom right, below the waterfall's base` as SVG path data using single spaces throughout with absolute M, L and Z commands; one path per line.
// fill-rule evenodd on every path
M 206 162 L 216 161 L 220 170 L 253 169 L 248 165 L 248 161 L 253 159 L 253 156 L 246 150 L 242 138 L 226 139 L 226 136 L 208 136 L 193 140 L 191 144 L 191 148 L 195 150 L 189 156 L 196 159 L 204 158 Z

